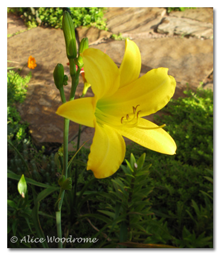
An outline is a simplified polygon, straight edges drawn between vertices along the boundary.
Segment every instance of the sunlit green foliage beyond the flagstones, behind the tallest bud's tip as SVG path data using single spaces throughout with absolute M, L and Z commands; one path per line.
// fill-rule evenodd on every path
M 103 19 L 104 7 L 13 7 L 8 8 L 11 13 L 18 14 L 25 20 L 28 27 L 44 25 L 46 27 L 62 28 L 63 11 L 68 11 L 74 26 L 94 26 L 100 30 L 106 28 Z

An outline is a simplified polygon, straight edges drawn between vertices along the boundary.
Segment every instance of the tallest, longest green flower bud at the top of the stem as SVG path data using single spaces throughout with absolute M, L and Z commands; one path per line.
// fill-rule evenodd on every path
M 64 33 L 66 52 L 68 59 L 76 58 L 77 48 L 76 48 L 76 38 L 74 33 L 74 23 L 71 19 L 70 14 L 64 11 L 62 19 L 62 29 Z

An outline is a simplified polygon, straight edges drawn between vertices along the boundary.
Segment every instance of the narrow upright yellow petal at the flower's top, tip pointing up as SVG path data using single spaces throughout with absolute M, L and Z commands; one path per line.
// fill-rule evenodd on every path
M 126 39 L 124 58 L 120 66 L 120 87 L 127 86 L 139 78 L 141 52 L 135 42 Z

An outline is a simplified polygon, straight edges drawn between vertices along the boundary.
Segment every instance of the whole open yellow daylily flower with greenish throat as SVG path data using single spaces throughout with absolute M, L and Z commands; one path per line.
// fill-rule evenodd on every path
M 87 170 L 96 178 L 114 174 L 125 157 L 123 136 L 153 151 L 175 154 L 177 146 L 162 126 L 142 118 L 165 107 L 174 95 L 176 82 L 168 69 L 153 69 L 139 78 L 141 53 L 128 39 L 119 69 L 98 49 L 88 48 L 81 56 L 94 97 L 66 102 L 56 114 L 95 128 Z

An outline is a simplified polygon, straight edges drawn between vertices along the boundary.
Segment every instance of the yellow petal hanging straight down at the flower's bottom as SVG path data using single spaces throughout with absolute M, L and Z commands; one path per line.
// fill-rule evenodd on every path
M 126 146 L 123 137 L 107 125 L 96 124 L 87 170 L 101 179 L 113 175 L 124 160 Z

